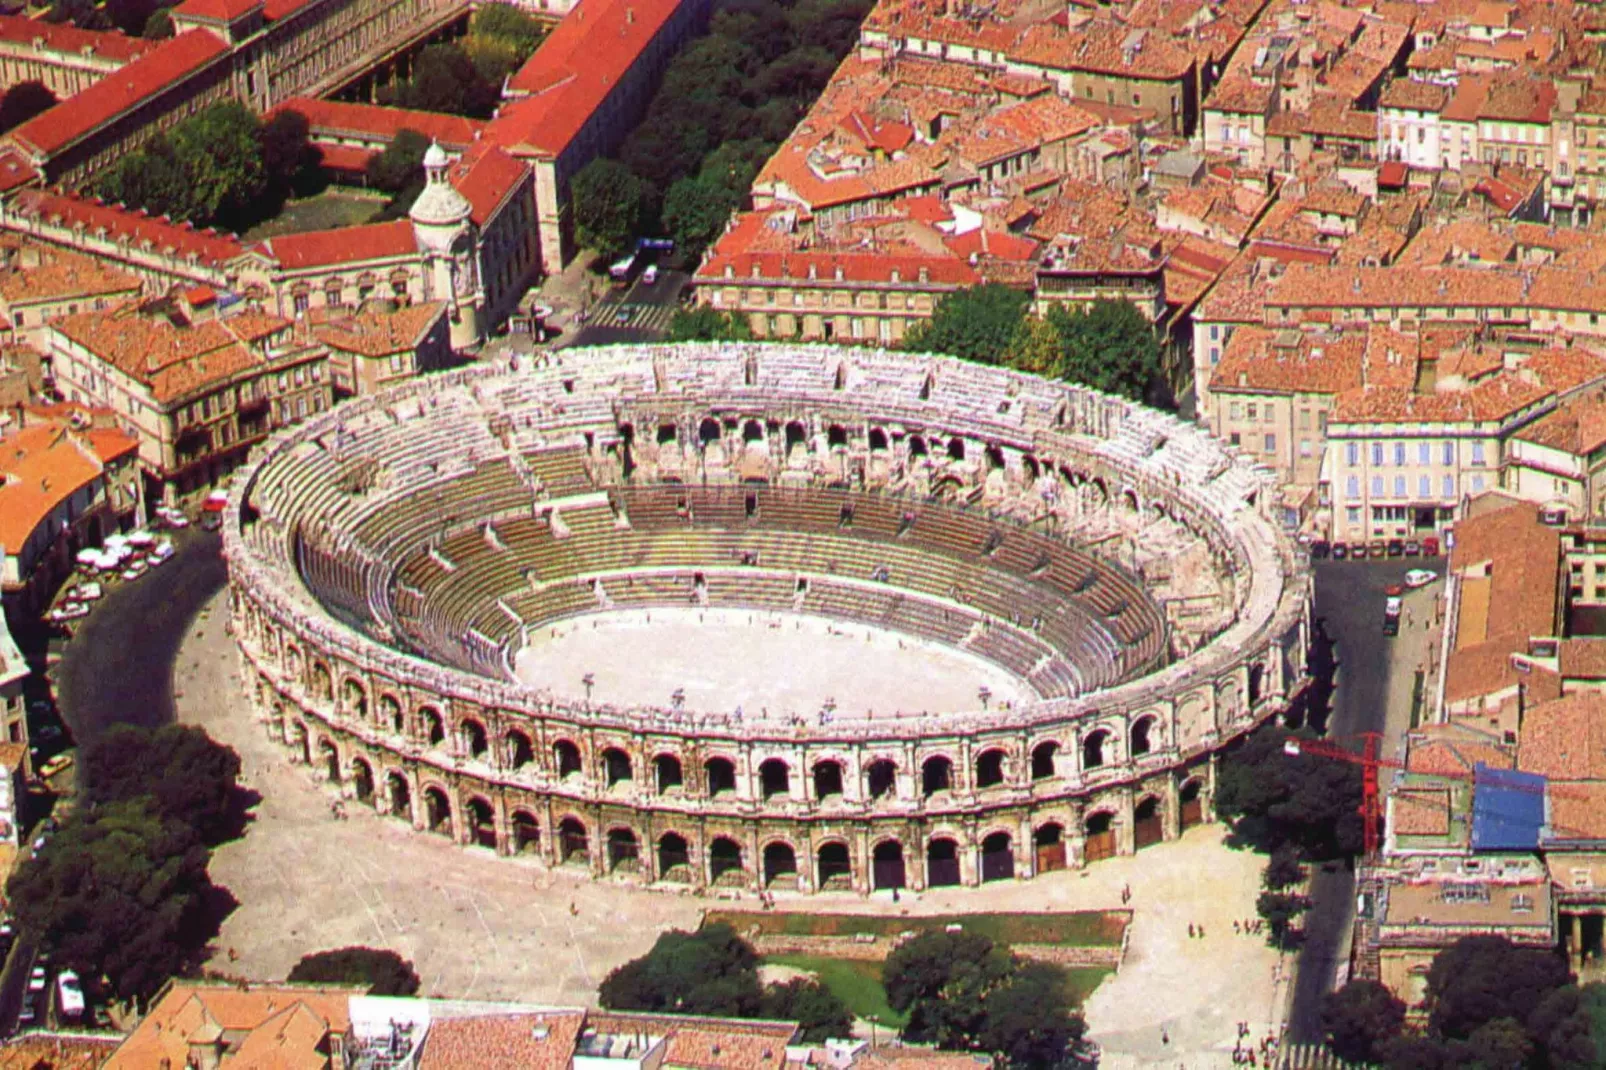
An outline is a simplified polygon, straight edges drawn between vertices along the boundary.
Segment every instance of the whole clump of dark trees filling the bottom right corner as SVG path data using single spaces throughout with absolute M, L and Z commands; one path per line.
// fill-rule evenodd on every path
M 1389 1070 L 1587 1070 L 1606 1065 L 1606 985 L 1579 986 L 1553 951 L 1505 937 L 1465 937 L 1428 970 L 1428 1023 L 1405 1028 L 1405 1004 L 1373 980 L 1322 1003 L 1328 1046 Z

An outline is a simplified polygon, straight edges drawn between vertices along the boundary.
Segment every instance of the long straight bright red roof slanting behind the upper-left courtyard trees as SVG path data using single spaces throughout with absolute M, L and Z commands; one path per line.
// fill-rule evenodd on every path
M 201 67 L 228 56 L 228 45 L 215 34 L 193 29 L 165 40 L 124 69 L 11 132 L 19 145 L 51 157 L 101 125 L 122 116 L 156 93 Z

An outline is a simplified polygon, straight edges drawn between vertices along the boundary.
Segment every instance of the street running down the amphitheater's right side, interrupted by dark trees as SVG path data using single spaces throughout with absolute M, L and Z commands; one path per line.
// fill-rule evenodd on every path
M 1433 602 L 1444 590 L 1444 557 L 1391 557 L 1384 561 L 1317 561 L 1315 617 L 1333 639 L 1338 662 L 1328 736 L 1341 744 L 1360 744 L 1357 733 L 1384 733 L 1384 757 L 1399 757 L 1410 728 L 1415 668 L 1437 643 L 1437 630 L 1425 628 Z M 1407 591 L 1410 622 L 1399 636 L 1383 635 L 1384 588 L 1404 583 L 1410 569 L 1441 574 L 1428 586 Z M 1388 789 L 1388 771 L 1383 786 Z M 1322 994 L 1333 988 L 1349 958 L 1349 930 L 1355 908 L 1355 879 L 1347 866 L 1317 869 L 1310 882 L 1315 906 L 1306 914 L 1306 945 L 1299 951 L 1288 1039 L 1320 1043 L 1317 1014 Z

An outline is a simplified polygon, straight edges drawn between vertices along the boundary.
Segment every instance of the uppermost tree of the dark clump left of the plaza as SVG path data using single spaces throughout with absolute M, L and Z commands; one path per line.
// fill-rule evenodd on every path
M 84 747 L 82 779 L 90 803 L 149 800 L 159 818 L 207 843 L 238 824 L 239 755 L 193 725 L 116 725 Z

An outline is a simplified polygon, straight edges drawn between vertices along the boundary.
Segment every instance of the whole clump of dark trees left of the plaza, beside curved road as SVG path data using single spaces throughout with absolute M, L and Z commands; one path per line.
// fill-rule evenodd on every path
M 215 933 L 226 893 L 207 863 L 243 824 L 239 757 L 199 728 L 124 725 L 80 758 L 80 808 L 6 895 L 21 930 L 59 962 L 145 1001 Z

